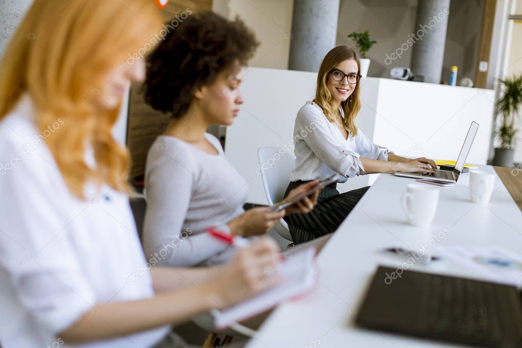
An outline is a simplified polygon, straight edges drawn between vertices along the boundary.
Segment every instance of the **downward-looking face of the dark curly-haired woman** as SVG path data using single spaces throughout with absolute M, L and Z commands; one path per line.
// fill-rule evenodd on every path
M 242 79 L 243 71 L 238 66 L 232 71 L 223 71 L 211 85 L 195 93 L 207 122 L 223 126 L 233 123 L 239 106 L 243 104 L 243 95 L 239 90 Z

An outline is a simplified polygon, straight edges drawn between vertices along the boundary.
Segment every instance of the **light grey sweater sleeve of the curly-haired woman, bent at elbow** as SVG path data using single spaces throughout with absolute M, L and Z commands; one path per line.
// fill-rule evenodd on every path
M 186 151 L 164 151 L 167 151 L 167 147 L 153 147 L 149 152 L 153 160 L 147 163 L 145 178 L 145 254 L 147 258 L 155 256 L 159 266 L 198 265 L 222 251 L 226 245 L 207 233 L 189 235 L 189 232 L 183 231 L 194 182 L 197 180 L 197 168 Z

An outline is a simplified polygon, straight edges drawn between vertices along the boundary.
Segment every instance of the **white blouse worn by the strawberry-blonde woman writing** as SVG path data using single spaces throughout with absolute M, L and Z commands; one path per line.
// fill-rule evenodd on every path
M 57 333 L 86 311 L 154 295 L 128 197 L 86 185 L 68 190 L 23 94 L 0 122 L 0 339 L 7 347 L 70 347 Z M 67 122 L 66 117 L 62 122 Z M 95 165 L 92 153 L 86 155 Z M 161 327 L 82 347 L 150 347 Z M 79 346 L 79 345 L 78 345 Z

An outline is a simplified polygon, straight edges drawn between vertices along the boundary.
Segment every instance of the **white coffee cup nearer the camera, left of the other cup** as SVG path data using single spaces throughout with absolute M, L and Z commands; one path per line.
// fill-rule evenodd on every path
M 417 227 L 431 225 L 437 211 L 438 196 L 438 188 L 426 184 L 408 184 L 401 201 L 409 223 Z

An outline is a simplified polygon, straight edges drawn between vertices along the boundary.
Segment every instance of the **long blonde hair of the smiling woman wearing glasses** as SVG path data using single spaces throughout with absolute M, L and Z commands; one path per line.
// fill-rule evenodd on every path
M 317 88 L 315 90 L 314 102 L 319 105 L 321 109 L 323 109 L 323 113 L 329 122 L 335 122 L 334 115 L 337 113 L 337 110 L 335 110 L 335 108 L 330 105 L 332 97 L 330 91 L 326 87 L 326 82 L 328 80 L 328 76 L 330 75 L 330 70 L 342 61 L 346 61 L 346 59 L 353 59 L 355 62 L 357 62 L 359 74 L 361 71 L 361 63 L 359 62 L 359 58 L 357 57 L 355 51 L 347 46 L 337 46 L 334 49 L 331 49 L 330 52 L 328 52 L 324 57 L 323 62 L 321 63 L 321 67 L 319 68 L 319 73 L 317 74 Z M 360 81 L 357 82 L 357 85 L 355 85 L 355 89 L 350 95 L 350 98 L 341 102 L 341 109 L 345 114 L 343 127 L 351 136 L 357 135 L 355 117 L 357 117 L 359 110 L 361 110 L 360 85 Z

